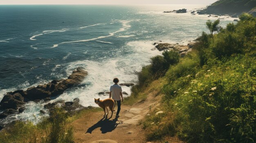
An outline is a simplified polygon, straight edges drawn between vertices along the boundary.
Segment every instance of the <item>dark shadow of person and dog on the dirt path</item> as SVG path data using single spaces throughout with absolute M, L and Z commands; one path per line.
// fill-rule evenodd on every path
M 117 117 L 113 120 L 109 120 L 108 117 L 106 116 L 106 117 L 103 117 L 96 124 L 92 125 L 92 127 L 88 128 L 86 133 L 92 134 L 93 130 L 95 130 L 97 128 L 101 128 L 100 129 L 101 133 L 105 134 L 107 132 L 112 132 L 113 130 L 115 130 L 115 128 L 117 128 L 117 125 L 122 124 L 122 123 L 123 123 L 123 121 L 118 120 Z

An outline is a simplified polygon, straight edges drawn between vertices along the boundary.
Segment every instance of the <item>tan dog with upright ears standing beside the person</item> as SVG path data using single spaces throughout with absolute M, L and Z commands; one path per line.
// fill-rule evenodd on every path
M 110 118 L 112 117 L 113 111 L 115 111 L 114 110 L 115 101 L 113 99 L 108 98 L 108 99 L 100 100 L 99 98 L 98 99 L 94 98 L 94 102 L 98 104 L 101 108 L 103 108 L 105 113 L 104 117 L 108 116 L 108 114 L 106 114 L 106 110 L 108 111 L 108 108 L 112 112 Z

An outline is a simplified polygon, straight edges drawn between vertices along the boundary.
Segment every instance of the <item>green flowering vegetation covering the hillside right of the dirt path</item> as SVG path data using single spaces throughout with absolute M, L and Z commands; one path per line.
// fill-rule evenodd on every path
M 189 143 L 256 142 L 255 21 L 244 13 L 216 34 L 203 32 L 194 50 L 168 68 L 164 114 L 142 122 L 147 140 L 176 135 Z M 143 68 L 140 74 L 152 72 Z

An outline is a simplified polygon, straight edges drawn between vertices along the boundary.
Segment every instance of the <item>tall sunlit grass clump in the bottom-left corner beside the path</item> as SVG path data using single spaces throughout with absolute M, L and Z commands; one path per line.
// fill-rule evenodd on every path
M 55 108 L 51 114 L 37 125 L 15 121 L 0 131 L 0 143 L 74 143 L 73 128 L 67 125 L 67 113 L 62 108 Z

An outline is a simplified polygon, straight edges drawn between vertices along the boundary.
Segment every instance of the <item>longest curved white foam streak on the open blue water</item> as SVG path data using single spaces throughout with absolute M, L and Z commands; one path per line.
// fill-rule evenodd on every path
M 128 29 L 128 28 L 131 27 L 131 26 L 128 24 L 128 23 L 130 22 L 130 21 L 128 21 L 128 20 L 118 20 L 118 21 L 121 22 L 122 28 L 120 28 L 118 31 L 109 33 L 109 35 L 107 35 L 107 36 L 99 36 L 99 37 L 97 37 L 97 38 L 92 38 L 92 39 L 85 39 L 85 40 L 77 40 L 77 41 L 62 42 L 62 43 L 60 43 L 60 44 L 75 43 L 75 42 L 87 42 L 87 41 L 98 40 L 98 39 L 102 39 L 102 38 L 106 38 L 106 37 L 111 37 L 111 36 L 114 36 L 115 33 L 119 33 L 119 32 L 122 32 L 122 31 L 126 31 L 126 29 Z M 54 44 L 51 48 L 55 48 L 55 47 L 57 47 L 57 46 L 60 45 L 60 44 Z

